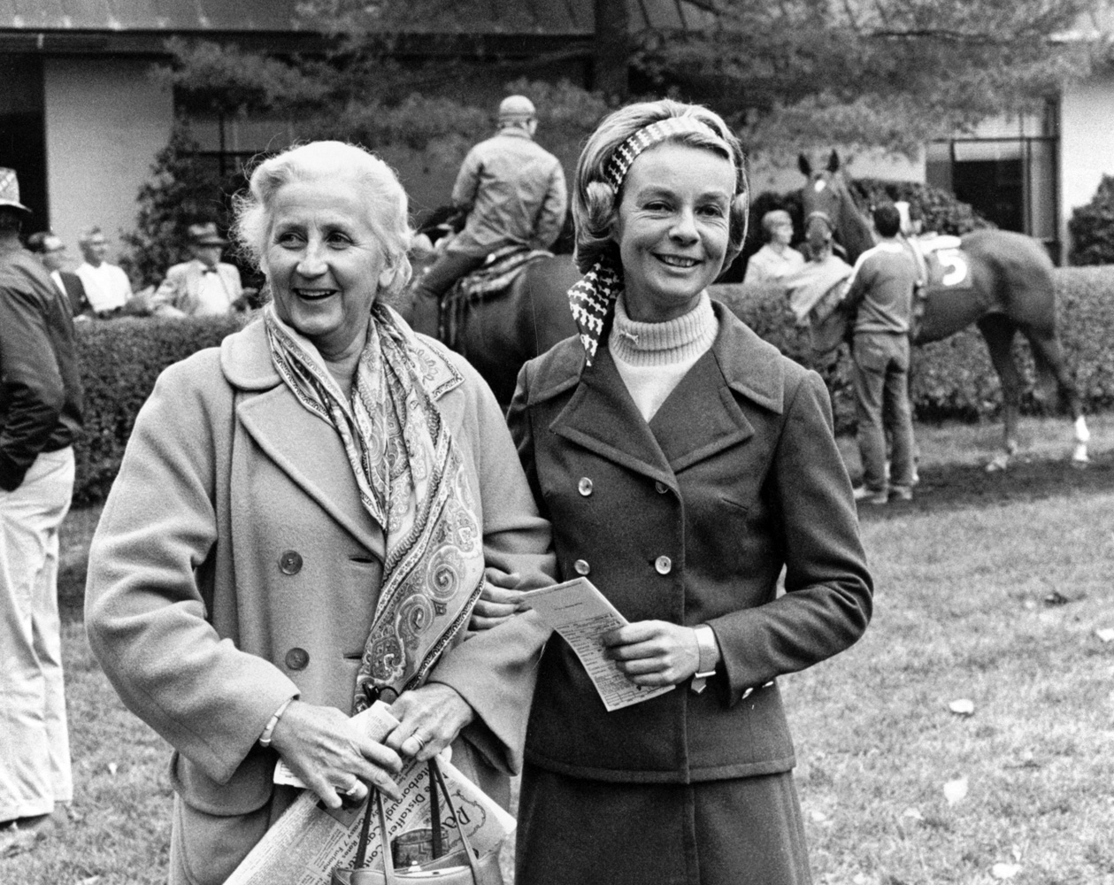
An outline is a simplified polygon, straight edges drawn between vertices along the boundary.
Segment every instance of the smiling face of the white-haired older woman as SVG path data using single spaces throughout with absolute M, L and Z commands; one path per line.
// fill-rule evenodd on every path
M 371 305 L 394 275 L 365 196 L 343 176 L 291 182 L 272 197 L 262 265 L 275 312 L 331 362 L 363 348 Z

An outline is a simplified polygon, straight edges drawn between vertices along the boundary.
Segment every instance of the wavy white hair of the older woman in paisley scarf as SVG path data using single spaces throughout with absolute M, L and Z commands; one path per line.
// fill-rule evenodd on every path
M 410 281 L 407 253 L 413 236 L 407 193 L 394 171 L 383 161 L 370 150 L 344 142 L 299 145 L 255 167 L 247 193 L 238 194 L 234 201 L 232 234 L 241 252 L 262 269 L 271 235 L 274 196 L 283 185 L 344 176 L 354 178 L 362 188 L 368 221 L 383 243 L 388 268 L 394 272 L 387 294 L 401 291 Z

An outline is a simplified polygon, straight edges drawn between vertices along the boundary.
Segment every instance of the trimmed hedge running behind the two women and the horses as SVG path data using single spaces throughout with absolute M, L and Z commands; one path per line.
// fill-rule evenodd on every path
M 1114 407 L 1114 268 L 1055 271 L 1061 341 L 1075 368 L 1087 411 Z M 793 325 L 778 285 L 719 285 L 713 294 L 785 356 L 815 368 L 832 391 L 837 429 L 854 427 L 851 363 L 847 349 L 829 364 L 813 359 L 805 329 Z M 241 328 L 243 317 L 221 319 L 121 319 L 79 323 L 77 338 L 85 382 L 86 435 L 76 446 L 75 504 L 101 500 L 119 468 L 139 407 L 158 373 L 194 351 L 214 347 Z M 1018 337 L 1028 385 L 1023 408 L 1035 411 L 1033 360 Z M 997 415 L 1001 388 L 975 327 L 917 349 L 913 408 L 920 420 L 976 420 Z

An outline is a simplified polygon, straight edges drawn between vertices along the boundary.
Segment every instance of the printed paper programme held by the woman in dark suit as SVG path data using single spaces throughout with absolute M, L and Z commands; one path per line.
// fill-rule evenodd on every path
M 636 685 L 604 653 L 603 635 L 629 623 L 619 610 L 586 577 L 575 577 L 522 594 L 522 601 L 576 652 L 607 711 L 648 701 L 675 685 Z

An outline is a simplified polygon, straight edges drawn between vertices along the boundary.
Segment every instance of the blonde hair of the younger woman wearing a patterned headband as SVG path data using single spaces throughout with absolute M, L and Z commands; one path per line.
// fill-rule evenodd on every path
M 623 188 L 612 186 L 605 176 L 612 155 L 635 133 L 653 123 L 670 117 L 693 117 L 706 125 L 712 133 L 685 132 L 671 135 L 665 140 L 712 150 L 724 156 L 724 146 L 735 167 L 735 194 L 731 202 L 727 253 L 723 270 L 731 265 L 743 249 L 746 237 L 747 185 L 746 157 L 735 135 L 719 114 L 700 105 L 685 105 L 668 98 L 642 101 L 616 110 L 596 127 L 580 159 L 576 164 L 573 184 L 573 221 L 576 224 L 576 264 L 587 272 L 605 254 L 618 260 L 618 246 L 612 239 L 618 215 Z

